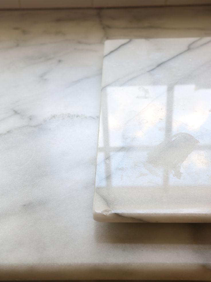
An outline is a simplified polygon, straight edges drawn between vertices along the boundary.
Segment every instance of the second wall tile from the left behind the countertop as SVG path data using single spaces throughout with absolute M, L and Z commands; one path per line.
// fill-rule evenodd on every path
M 82 8 L 91 7 L 91 0 L 20 0 L 21 8 Z

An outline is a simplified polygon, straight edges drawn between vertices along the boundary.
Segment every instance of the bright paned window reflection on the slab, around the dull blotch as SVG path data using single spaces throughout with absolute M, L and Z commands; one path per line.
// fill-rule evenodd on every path
M 209 185 L 211 89 L 175 85 L 171 91 L 166 85 L 143 85 L 104 91 L 96 187 L 170 189 L 177 185 L 185 189 Z M 178 133 L 188 133 L 199 141 L 180 164 L 180 178 L 171 167 L 153 166 L 148 161 L 149 152 Z

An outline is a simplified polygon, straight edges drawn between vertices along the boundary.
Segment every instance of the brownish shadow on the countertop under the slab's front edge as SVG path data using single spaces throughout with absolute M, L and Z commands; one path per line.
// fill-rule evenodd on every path
M 95 222 L 98 243 L 211 244 L 209 223 Z

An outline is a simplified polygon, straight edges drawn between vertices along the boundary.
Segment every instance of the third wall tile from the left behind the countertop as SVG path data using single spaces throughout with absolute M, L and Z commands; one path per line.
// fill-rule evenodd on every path
M 162 6 L 165 0 L 93 0 L 93 7 Z

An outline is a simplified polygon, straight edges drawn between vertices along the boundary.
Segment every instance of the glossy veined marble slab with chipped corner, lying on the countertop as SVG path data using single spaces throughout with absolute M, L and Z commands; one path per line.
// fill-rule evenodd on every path
M 211 222 L 211 38 L 105 42 L 93 214 Z

